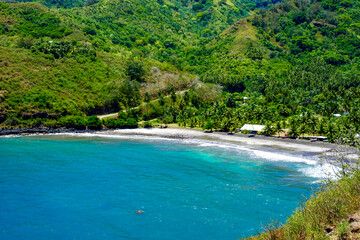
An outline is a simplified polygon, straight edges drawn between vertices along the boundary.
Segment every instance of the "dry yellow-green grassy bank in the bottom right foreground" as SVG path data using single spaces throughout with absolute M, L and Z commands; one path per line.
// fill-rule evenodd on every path
M 312 196 L 283 227 L 269 226 L 266 233 L 249 239 L 358 239 L 349 215 L 360 210 L 360 172 L 330 184 Z M 357 219 L 358 221 L 358 219 Z

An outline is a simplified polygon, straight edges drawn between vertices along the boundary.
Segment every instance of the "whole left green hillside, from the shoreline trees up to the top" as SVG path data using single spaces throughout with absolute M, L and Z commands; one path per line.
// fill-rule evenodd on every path
M 57 115 L 113 111 L 107 104 L 114 91 L 111 83 L 125 78 L 126 62 L 140 58 L 146 70 L 157 66 L 165 73 L 176 74 L 178 70 L 156 59 L 164 61 L 182 48 L 199 44 L 198 38 L 207 27 L 215 24 L 221 31 L 229 26 L 224 14 L 239 5 L 237 1 L 222 4 L 222 13 L 217 3 L 206 4 L 202 11 L 214 13 L 205 23 L 197 19 L 198 12 L 191 6 L 180 1 L 168 3 L 104 0 L 85 8 L 51 10 L 38 3 L 2 3 L 2 118 L 39 112 Z M 25 49 L 50 40 L 91 44 L 97 57 L 68 54 L 53 59 L 49 54 Z

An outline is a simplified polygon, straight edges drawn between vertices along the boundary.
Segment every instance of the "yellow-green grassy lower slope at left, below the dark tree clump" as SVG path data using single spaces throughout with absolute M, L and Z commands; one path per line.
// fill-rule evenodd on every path
M 98 53 L 95 61 L 52 60 L 45 54 L 34 55 L 27 49 L 6 47 L 0 47 L 0 55 L 3 113 L 46 111 L 62 115 L 116 111 L 109 109 L 107 101 L 125 78 L 125 63 L 131 57 L 125 51 Z M 144 63 L 146 69 L 159 67 L 164 72 L 177 72 L 172 66 L 153 60 Z

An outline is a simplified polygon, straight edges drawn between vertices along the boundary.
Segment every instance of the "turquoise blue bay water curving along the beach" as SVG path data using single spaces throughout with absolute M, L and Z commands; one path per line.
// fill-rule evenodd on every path
M 237 239 L 284 222 L 318 186 L 313 161 L 215 146 L 0 138 L 0 239 Z

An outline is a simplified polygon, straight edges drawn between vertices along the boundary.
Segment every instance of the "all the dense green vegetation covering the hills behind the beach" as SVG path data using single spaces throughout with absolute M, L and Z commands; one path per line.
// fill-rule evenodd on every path
M 142 103 L 129 118 L 330 141 L 359 131 L 357 1 L 42 3 L 63 8 L 0 4 L 5 127 Z

